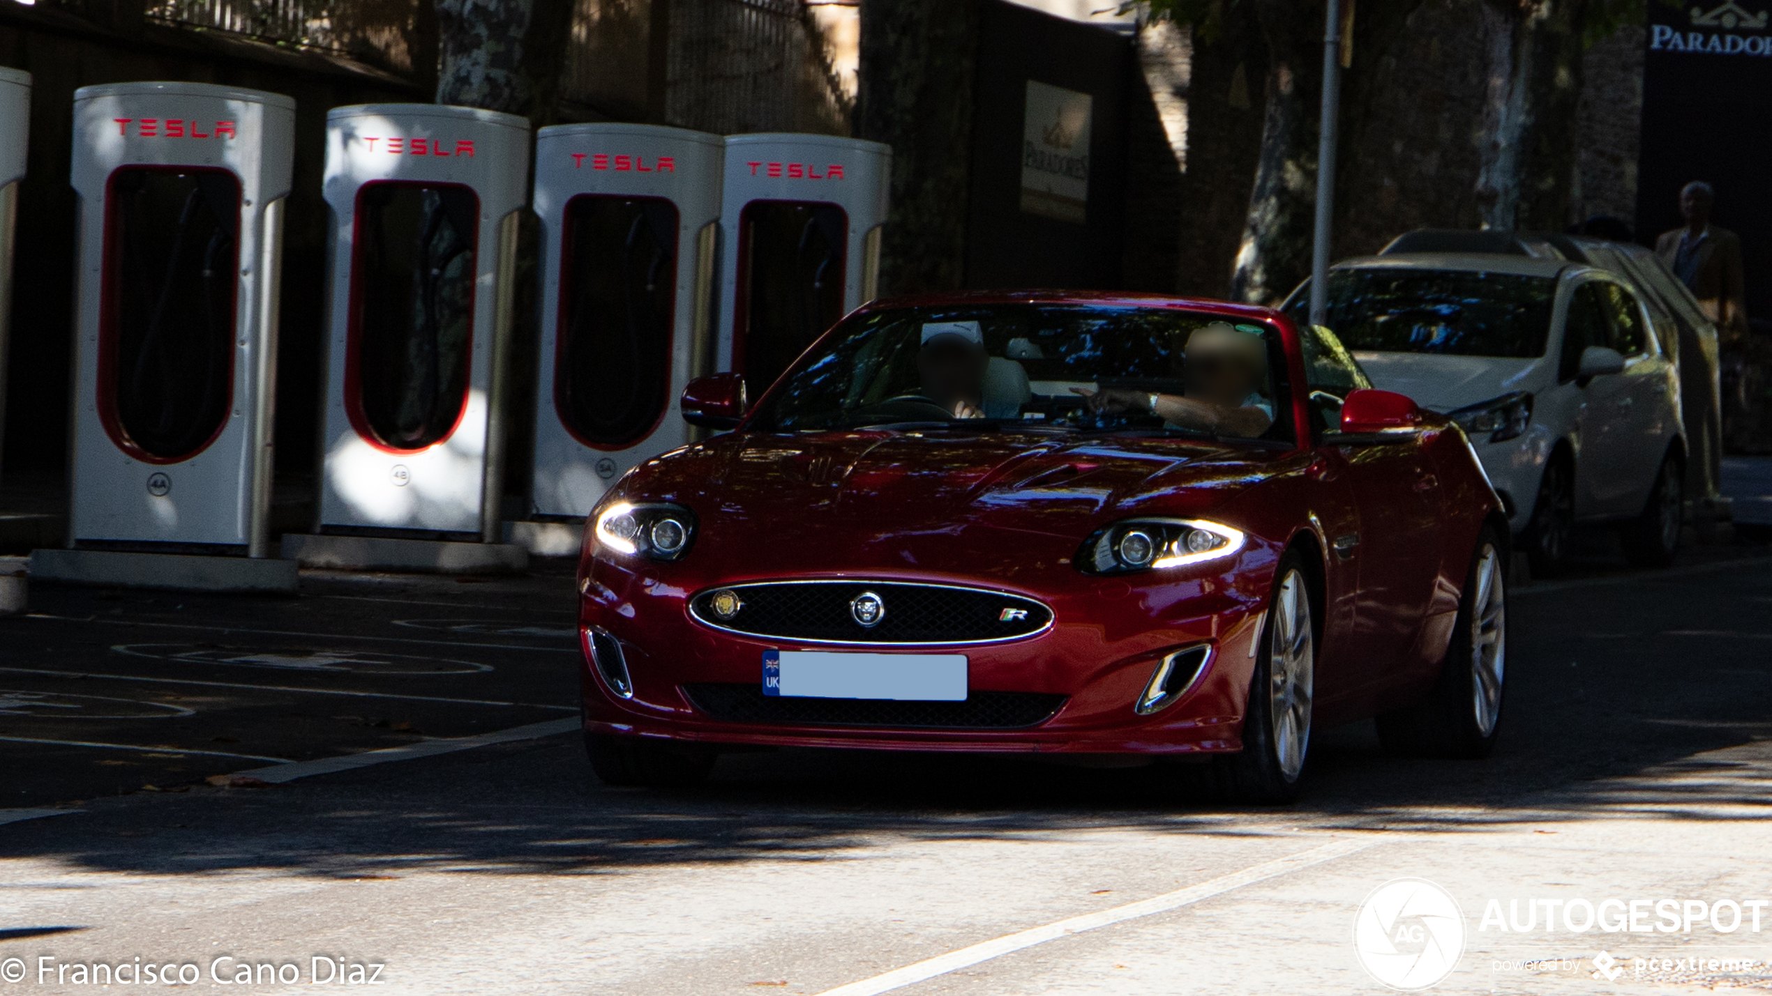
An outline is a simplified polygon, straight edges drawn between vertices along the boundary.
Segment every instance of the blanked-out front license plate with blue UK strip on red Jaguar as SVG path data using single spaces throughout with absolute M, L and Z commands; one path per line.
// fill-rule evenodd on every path
M 964 702 L 966 655 L 764 651 L 764 695 Z

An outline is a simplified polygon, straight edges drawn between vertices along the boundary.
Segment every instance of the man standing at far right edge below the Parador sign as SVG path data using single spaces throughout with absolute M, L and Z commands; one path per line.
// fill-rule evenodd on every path
M 1742 241 L 1710 223 L 1715 191 L 1690 182 L 1680 191 L 1685 228 L 1662 232 L 1655 253 L 1717 324 L 1722 375 L 1722 449 L 1772 453 L 1772 341 L 1751 336 L 1742 288 Z

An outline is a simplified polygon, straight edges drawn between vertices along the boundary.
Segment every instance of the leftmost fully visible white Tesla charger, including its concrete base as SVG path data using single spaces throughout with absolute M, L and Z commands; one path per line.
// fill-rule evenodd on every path
M 266 559 L 294 120 L 289 97 L 204 83 L 74 92 L 71 548 L 34 573 L 294 587 Z

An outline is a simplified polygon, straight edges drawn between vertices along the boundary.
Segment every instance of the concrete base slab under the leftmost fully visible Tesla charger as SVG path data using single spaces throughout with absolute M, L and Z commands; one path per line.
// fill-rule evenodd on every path
M 294 561 L 138 554 L 122 550 L 32 550 L 30 577 L 67 584 L 294 594 Z

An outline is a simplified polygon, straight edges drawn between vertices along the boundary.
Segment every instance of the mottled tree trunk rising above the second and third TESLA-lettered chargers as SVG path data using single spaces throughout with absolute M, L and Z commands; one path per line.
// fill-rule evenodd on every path
M 571 0 L 436 0 L 436 14 L 439 104 L 553 124 Z

